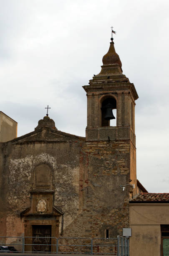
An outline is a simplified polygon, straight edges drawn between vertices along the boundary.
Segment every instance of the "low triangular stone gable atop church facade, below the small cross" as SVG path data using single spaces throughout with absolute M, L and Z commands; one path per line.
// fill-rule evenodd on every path
M 13 139 L 12 143 L 26 143 L 31 141 L 69 141 L 69 140 L 85 140 L 84 137 L 64 133 L 52 128 L 43 127 L 31 133 Z

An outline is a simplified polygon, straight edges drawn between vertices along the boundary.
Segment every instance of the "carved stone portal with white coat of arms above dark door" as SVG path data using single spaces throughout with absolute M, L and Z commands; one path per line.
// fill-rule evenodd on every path
M 53 207 L 53 191 L 31 192 L 31 195 L 31 207 L 21 212 L 25 251 L 55 252 L 63 212 Z M 45 202 L 44 212 L 39 209 L 41 202 Z

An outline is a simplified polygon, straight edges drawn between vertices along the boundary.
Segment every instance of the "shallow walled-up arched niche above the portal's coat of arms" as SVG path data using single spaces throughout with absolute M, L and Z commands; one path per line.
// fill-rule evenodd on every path
M 40 164 L 34 169 L 34 189 L 52 189 L 53 172 L 47 164 Z

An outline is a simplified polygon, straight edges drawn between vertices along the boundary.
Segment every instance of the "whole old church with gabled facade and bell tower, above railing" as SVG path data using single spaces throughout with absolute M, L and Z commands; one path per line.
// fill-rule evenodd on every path
M 86 137 L 58 131 L 45 116 L 35 131 L 0 142 L 0 236 L 30 237 L 30 244 L 39 234 L 112 238 L 134 223 L 129 202 L 147 192 L 136 179 L 138 95 L 113 40 L 101 72 L 83 88 Z

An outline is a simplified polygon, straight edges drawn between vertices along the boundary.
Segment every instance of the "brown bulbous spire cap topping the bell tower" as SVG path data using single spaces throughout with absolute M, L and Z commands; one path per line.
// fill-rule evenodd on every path
M 122 66 L 119 55 L 116 53 L 114 48 L 113 38 L 111 38 L 111 43 L 108 52 L 103 56 L 103 65 L 116 64 L 120 67 Z

